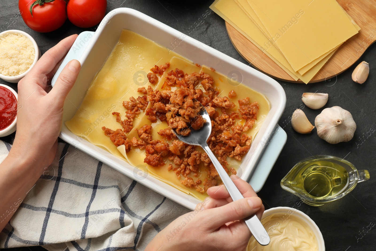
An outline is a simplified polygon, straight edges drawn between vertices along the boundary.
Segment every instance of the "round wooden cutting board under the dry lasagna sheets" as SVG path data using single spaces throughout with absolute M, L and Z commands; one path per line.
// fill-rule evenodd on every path
M 361 30 L 337 49 L 309 83 L 324 81 L 342 73 L 354 64 L 376 40 L 375 0 L 337 0 L 337 2 L 353 18 Z M 302 81 L 294 81 L 279 65 L 227 22 L 226 29 L 235 49 L 253 67 L 272 78 L 303 83 Z

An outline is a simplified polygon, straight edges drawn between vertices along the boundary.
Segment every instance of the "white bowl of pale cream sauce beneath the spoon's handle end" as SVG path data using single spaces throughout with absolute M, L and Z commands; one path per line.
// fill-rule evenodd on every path
M 273 207 L 265 210 L 261 222 L 270 236 L 270 243 L 261 246 L 252 236 L 247 251 L 325 251 L 320 229 L 302 211 Z

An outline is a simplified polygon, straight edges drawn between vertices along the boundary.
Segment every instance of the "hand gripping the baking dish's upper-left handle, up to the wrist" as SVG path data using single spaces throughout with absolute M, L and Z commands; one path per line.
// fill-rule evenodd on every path
M 35 162 L 40 170 L 55 157 L 64 100 L 76 81 L 80 62 L 68 62 L 52 90 L 50 82 L 76 37 L 67 37 L 44 53 L 18 83 L 17 132 L 12 153 Z

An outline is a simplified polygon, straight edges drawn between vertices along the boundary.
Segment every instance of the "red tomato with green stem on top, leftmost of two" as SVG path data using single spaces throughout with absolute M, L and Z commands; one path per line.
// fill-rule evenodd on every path
M 34 3 L 31 14 L 30 6 Z M 56 30 L 67 20 L 67 4 L 64 0 L 19 0 L 18 8 L 26 25 L 38 32 Z

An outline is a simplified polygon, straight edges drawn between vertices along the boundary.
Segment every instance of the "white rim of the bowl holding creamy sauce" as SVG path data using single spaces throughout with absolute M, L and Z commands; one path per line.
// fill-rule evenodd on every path
M 307 214 L 292 207 L 272 207 L 268 210 L 265 210 L 264 214 L 262 214 L 262 218 L 267 217 L 270 214 L 274 214 L 274 213 L 283 213 L 283 214 L 288 213 L 288 214 L 292 214 L 302 219 L 305 223 L 309 225 L 309 227 L 312 228 L 318 241 L 318 250 L 325 251 L 325 242 L 324 242 L 323 234 L 321 233 L 320 228 L 317 227 L 316 223 L 311 218 L 309 218 Z

